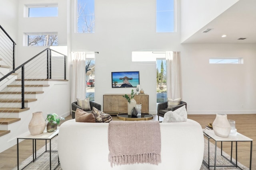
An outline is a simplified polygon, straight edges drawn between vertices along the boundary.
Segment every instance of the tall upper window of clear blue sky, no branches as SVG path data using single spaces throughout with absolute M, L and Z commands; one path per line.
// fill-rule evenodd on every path
M 174 0 L 156 0 L 156 32 L 174 32 Z

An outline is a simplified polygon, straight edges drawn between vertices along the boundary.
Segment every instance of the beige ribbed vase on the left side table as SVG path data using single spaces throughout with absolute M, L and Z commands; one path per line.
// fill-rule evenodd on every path
M 39 135 L 44 132 L 46 123 L 42 113 L 42 111 L 36 111 L 33 113 L 32 119 L 28 124 L 28 130 L 31 135 Z

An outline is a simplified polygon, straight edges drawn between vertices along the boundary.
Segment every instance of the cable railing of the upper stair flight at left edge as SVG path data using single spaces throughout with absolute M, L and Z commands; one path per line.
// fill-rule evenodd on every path
M 14 40 L 0 25 L 0 59 L 12 69 L 15 68 L 15 45 Z

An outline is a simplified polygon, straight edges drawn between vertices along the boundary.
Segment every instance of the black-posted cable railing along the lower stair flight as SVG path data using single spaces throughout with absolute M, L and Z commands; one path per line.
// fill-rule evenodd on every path
M 47 48 L 0 78 L 0 119 L 26 109 L 27 102 L 48 86 L 45 80 L 66 80 L 66 62 L 66 55 Z

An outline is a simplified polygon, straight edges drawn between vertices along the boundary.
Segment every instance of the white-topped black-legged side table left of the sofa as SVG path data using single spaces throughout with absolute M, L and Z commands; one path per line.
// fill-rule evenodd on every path
M 49 152 L 50 153 L 50 170 L 52 169 L 52 152 L 58 152 L 57 150 L 52 150 L 52 139 L 56 136 L 58 136 L 59 129 L 57 129 L 55 132 L 47 132 L 45 129 L 43 133 L 39 135 L 31 135 L 30 133 L 23 134 L 19 137 L 17 137 L 17 167 L 19 170 L 19 139 L 32 139 L 32 147 L 33 147 L 33 160 L 29 162 L 26 166 L 24 166 L 22 169 L 26 168 L 29 164 L 34 162 L 36 159 L 38 159 L 42 154 Z M 45 140 L 45 151 L 40 154 L 38 157 L 36 157 L 36 140 Z M 47 150 L 47 140 L 49 140 L 50 149 Z M 56 169 L 60 164 L 60 161 L 58 160 L 58 165 L 54 168 Z

